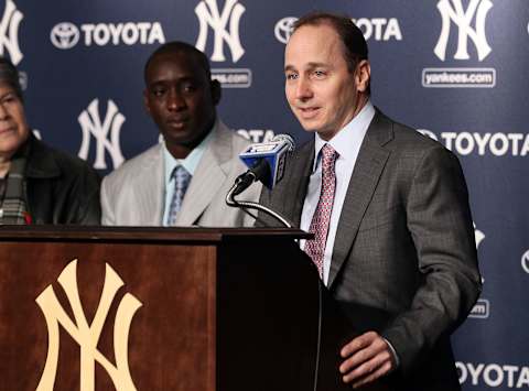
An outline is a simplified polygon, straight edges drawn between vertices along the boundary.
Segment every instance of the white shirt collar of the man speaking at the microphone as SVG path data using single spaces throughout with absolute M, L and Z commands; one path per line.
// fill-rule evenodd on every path
M 323 140 L 320 134 L 316 133 L 314 140 L 314 156 L 316 156 L 316 159 L 314 159 L 312 167 L 313 172 L 317 169 L 320 152 L 325 144 L 330 144 L 336 152 L 338 152 L 338 155 L 342 159 L 356 159 L 357 153 L 355 153 L 355 149 L 352 149 L 350 145 L 355 145 L 357 149 L 360 148 L 373 117 L 375 117 L 375 107 L 371 101 L 368 100 L 361 108 L 360 112 L 358 112 L 358 115 L 356 115 L 350 122 L 342 128 L 330 141 Z

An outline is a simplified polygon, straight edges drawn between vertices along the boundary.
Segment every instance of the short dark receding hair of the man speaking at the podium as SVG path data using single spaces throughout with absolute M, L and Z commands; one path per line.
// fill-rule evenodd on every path
M 355 72 L 356 65 L 368 59 L 367 42 L 361 30 L 353 23 L 349 17 L 331 12 L 311 12 L 300 18 L 294 23 L 294 32 L 303 25 L 322 25 L 327 24 L 338 34 L 343 47 L 344 59 L 347 63 L 349 72 Z

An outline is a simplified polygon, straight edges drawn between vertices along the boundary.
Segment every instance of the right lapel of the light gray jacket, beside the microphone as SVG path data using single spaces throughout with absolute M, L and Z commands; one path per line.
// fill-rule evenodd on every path
M 215 134 L 196 167 L 185 193 L 182 209 L 176 218 L 177 226 L 191 226 L 209 206 L 226 181 L 233 156 L 231 130 L 218 122 Z M 224 195 L 220 195 L 224 196 Z

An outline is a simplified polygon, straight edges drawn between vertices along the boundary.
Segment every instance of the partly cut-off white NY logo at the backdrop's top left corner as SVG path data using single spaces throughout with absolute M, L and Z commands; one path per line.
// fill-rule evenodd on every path
M 22 12 L 11 0 L 6 1 L 2 21 L 0 22 L 0 55 L 3 56 L 4 48 L 14 65 L 18 65 L 24 56 L 19 46 L 19 25 L 24 19 Z

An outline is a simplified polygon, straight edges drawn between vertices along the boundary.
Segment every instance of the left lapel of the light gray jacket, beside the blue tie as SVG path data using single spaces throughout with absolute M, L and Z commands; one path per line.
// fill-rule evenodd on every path
M 163 173 L 163 150 L 162 144 L 159 144 L 142 165 L 141 173 L 137 176 L 141 182 L 134 186 L 138 196 L 138 221 L 141 221 L 141 225 L 160 226 L 163 222 L 165 203 Z

